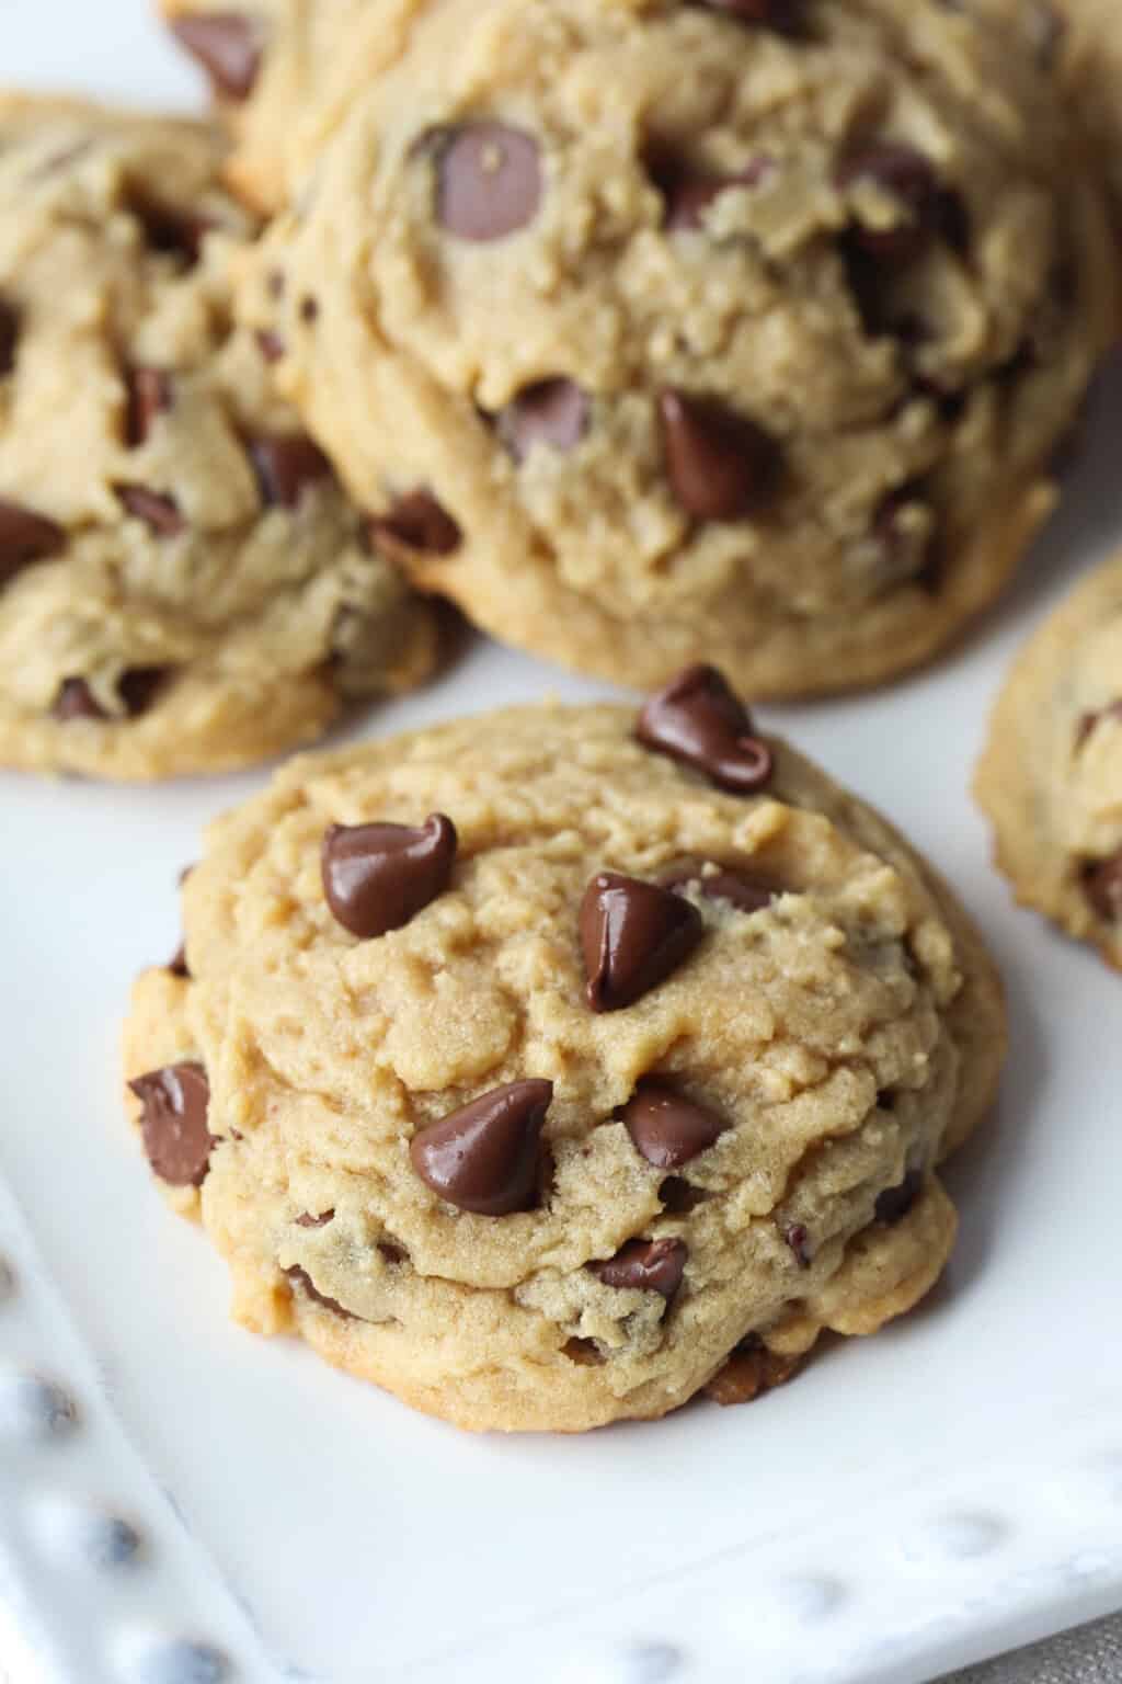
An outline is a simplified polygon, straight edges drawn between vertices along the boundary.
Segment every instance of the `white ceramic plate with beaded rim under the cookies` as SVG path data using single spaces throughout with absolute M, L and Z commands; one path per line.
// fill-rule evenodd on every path
M 143 0 L 0 0 L 3 74 L 188 103 Z M 1063 514 L 952 662 L 781 727 L 999 953 L 1013 1059 L 950 1170 L 945 1285 L 744 1410 L 469 1438 L 225 1319 L 118 1105 L 131 975 L 261 775 L 0 778 L 0 1677 L 915 1684 L 1122 1603 L 1122 982 L 1014 911 L 966 785 L 1031 621 L 1122 532 L 1122 379 Z M 479 643 L 367 729 L 595 694 Z M 772 716 L 775 719 L 775 716 Z

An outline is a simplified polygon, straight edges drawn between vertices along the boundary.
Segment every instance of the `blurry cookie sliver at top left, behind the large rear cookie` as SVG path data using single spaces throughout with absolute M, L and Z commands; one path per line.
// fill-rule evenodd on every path
M 353 94 L 392 64 L 432 0 L 160 0 L 204 69 L 234 147 L 230 187 L 284 204 Z

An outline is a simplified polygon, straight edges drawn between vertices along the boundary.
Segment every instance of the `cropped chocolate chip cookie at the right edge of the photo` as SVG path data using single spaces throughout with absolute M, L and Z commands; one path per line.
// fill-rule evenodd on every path
M 1018 899 L 1122 967 L 1122 556 L 1018 655 L 974 786 Z

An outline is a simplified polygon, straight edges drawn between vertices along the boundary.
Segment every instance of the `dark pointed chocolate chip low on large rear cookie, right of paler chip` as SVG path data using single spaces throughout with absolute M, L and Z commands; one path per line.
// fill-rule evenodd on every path
M 664 391 L 658 401 L 669 487 L 698 520 L 744 520 L 775 483 L 775 441 L 708 397 Z

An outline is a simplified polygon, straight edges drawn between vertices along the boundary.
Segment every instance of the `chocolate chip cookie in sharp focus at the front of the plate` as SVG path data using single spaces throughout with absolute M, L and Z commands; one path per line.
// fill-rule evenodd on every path
M 939 1276 L 994 1096 L 954 894 L 712 669 L 301 758 L 136 983 L 131 1110 L 234 1314 L 459 1426 L 784 1379 Z

